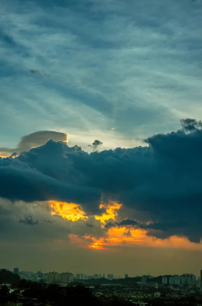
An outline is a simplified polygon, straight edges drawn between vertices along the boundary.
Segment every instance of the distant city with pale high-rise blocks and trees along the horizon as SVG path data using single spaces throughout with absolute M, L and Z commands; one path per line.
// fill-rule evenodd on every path
M 8 275 L 18 277 L 18 285 L 2 282 L 1 273 L 2 275 L 9 273 Z M 25 300 L 26 302 L 31 301 L 25 298 L 24 292 L 26 292 L 26 288 L 31 290 L 30 288 L 32 287 L 30 284 L 36 284 L 32 286 L 43 286 L 43 288 L 47 286 L 49 288 L 48 286 L 51 287 L 54 285 L 63 290 L 64 288 L 69 288 L 69 286 L 75 288 L 74 290 L 82 286 L 90 290 L 92 296 L 102 301 L 118 298 L 131 305 L 143 306 L 153 304 L 153 302 L 158 304 L 159 301 L 162 304 L 166 304 L 168 301 L 169 304 L 178 302 L 182 304 L 183 298 L 189 300 L 190 297 L 192 299 L 194 298 L 194 303 L 197 301 L 197 304 L 200 304 L 200 301 L 202 302 L 202 270 L 199 273 L 200 276 L 198 277 L 193 273 L 160 276 L 148 274 L 129 277 L 129 274 L 125 273 L 124 277 L 119 278 L 111 273 L 107 275 L 98 273 L 94 275 L 86 275 L 83 273 L 74 274 L 71 272 L 58 273 L 55 271 L 43 273 L 42 271 L 21 271 L 17 267 L 14 269 L 7 268 L 0 270 L 0 301 L 1 290 L 3 291 L 5 287 L 8 288 L 10 294 L 18 292 L 16 298 L 19 301 L 21 299 L 23 299 L 23 302 Z M 18 288 L 20 288 L 20 291 Z M 38 305 L 38 303 L 39 301 L 34 302 L 33 305 Z M 18 302 L 18 304 L 20 303 Z

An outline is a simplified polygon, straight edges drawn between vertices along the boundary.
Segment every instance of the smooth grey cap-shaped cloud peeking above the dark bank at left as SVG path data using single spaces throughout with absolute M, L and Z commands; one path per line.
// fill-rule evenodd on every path
M 0 153 L 5 156 L 10 156 L 12 153 L 19 154 L 23 151 L 28 151 L 32 147 L 37 147 L 46 143 L 49 139 L 54 141 L 65 141 L 67 142 L 67 134 L 54 132 L 54 131 L 38 131 L 32 134 L 21 137 L 20 142 L 14 149 L 10 148 L 0 148 Z

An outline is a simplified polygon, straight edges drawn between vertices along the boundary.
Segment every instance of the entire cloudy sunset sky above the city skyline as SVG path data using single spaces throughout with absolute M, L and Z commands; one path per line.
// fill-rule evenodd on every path
M 199 275 L 202 1 L 0 14 L 3 267 Z

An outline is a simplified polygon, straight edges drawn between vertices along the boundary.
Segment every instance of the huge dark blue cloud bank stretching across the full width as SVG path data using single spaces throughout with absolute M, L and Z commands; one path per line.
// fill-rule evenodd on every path
M 71 201 L 97 214 L 102 194 L 105 202 L 119 201 L 124 207 L 145 212 L 145 221 L 153 221 L 145 227 L 148 235 L 162 239 L 178 235 L 199 242 L 201 122 L 182 120 L 181 130 L 157 134 L 145 142 L 148 146 L 88 154 L 78 146 L 70 148 L 50 140 L 18 157 L 0 160 L 0 195 L 27 202 Z M 143 226 L 129 218 L 108 223 L 106 228 Z M 84 232 L 94 229 L 94 224 L 93 228 L 86 223 L 82 226 Z

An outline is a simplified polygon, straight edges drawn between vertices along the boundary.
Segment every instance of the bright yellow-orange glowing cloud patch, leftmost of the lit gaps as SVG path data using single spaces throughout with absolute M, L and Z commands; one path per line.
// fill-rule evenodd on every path
M 49 201 L 51 207 L 51 215 L 59 215 L 64 219 L 77 221 L 79 219 L 86 220 L 88 217 L 81 210 L 79 205 L 75 203 Z

